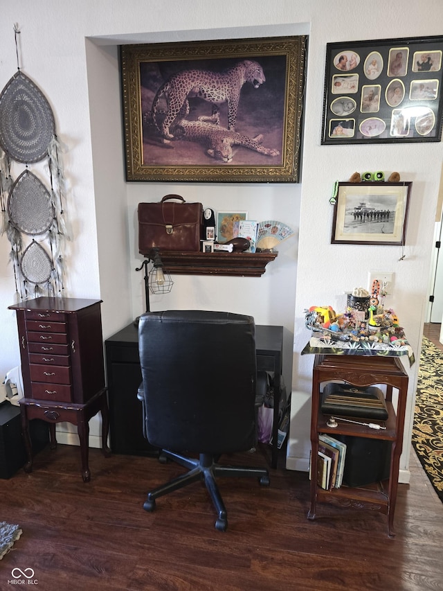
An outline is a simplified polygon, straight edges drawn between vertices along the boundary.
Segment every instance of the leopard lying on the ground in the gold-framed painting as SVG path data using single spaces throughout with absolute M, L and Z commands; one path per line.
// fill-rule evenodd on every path
M 182 114 L 187 114 L 186 109 Z M 206 148 L 208 156 L 228 164 L 233 159 L 233 146 L 240 145 L 249 150 L 254 150 L 266 156 L 279 156 L 280 152 L 273 148 L 264 148 L 262 145 L 262 134 L 254 138 L 239 134 L 233 130 L 227 130 L 226 127 L 219 125 L 219 114 L 213 114 L 211 117 L 199 117 L 198 121 L 188 121 L 181 118 L 172 127 L 175 139 L 184 139 L 186 141 L 197 141 Z

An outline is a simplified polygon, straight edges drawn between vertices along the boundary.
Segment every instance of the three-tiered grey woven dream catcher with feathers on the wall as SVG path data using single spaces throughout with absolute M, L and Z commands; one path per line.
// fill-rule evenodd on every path
M 15 26 L 16 48 L 18 33 Z M 69 239 L 60 145 L 51 105 L 20 71 L 18 50 L 17 69 L 0 94 L 1 233 L 11 244 L 16 298 L 55 296 L 64 289 L 62 251 Z M 28 166 L 44 160 L 48 179 L 42 181 Z M 26 167 L 16 180 L 11 174 L 13 162 Z

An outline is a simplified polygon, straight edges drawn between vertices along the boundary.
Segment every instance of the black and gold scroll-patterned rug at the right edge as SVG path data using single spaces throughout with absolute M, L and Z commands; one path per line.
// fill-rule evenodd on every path
M 423 337 L 412 443 L 443 502 L 443 351 Z

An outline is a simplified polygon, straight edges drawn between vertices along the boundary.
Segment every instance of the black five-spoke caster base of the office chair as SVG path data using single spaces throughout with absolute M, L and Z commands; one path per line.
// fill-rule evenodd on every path
M 213 455 L 211 454 L 200 454 L 199 459 L 191 459 L 168 450 L 162 450 L 161 456 L 162 455 L 163 457 L 177 461 L 177 464 L 185 466 L 189 471 L 170 480 L 170 482 L 167 482 L 166 484 L 154 488 L 153 491 L 150 491 L 150 493 L 147 494 L 145 504 L 143 504 L 143 509 L 145 509 L 145 511 L 154 511 L 156 498 L 177 491 L 179 488 L 188 486 L 188 484 L 192 484 L 193 482 L 204 480 L 217 511 L 215 527 L 219 531 L 226 531 L 226 528 L 228 527 L 228 515 L 217 486 L 216 478 L 222 476 L 255 476 L 258 478 L 258 482 L 261 486 L 269 486 L 269 473 L 265 468 L 222 466 L 215 463 Z

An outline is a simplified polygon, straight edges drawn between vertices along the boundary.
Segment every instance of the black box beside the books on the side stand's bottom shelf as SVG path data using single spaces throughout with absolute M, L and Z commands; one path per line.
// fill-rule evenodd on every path
M 365 486 L 389 478 L 392 441 L 334 435 L 346 443 L 343 484 Z

